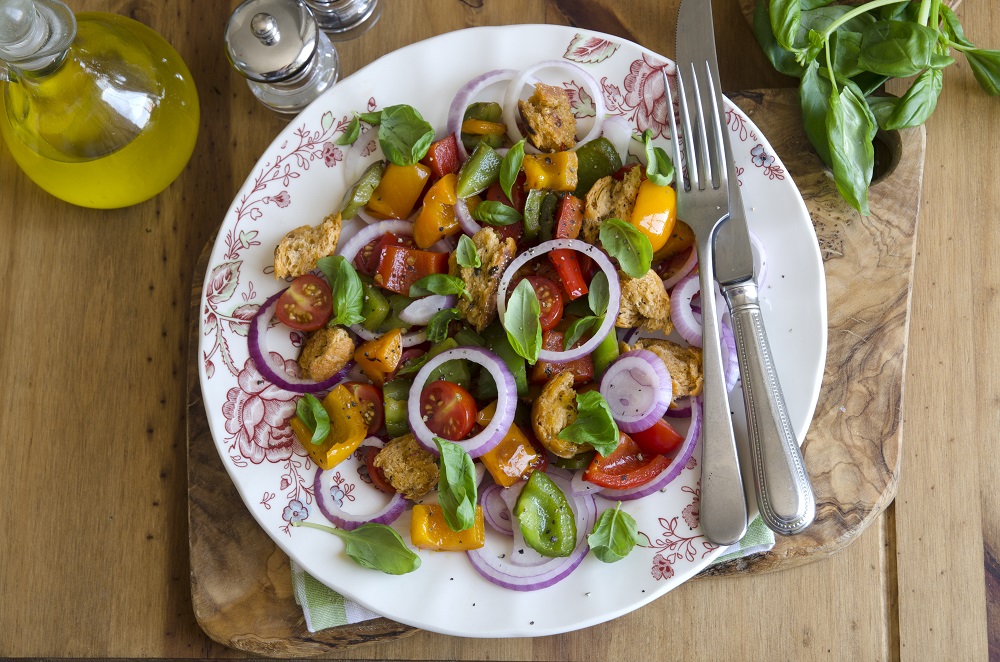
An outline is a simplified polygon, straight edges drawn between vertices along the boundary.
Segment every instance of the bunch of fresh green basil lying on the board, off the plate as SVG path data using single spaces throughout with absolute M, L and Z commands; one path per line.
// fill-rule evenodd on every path
M 840 194 L 870 213 L 868 187 L 879 128 L 923 124 L 954 64 L 965 55 L 987 94 L 1000 94 L 1000 51 L 976 48 L 941 0 L 758 0 L 753 29 L 771 64 L 801 79 L 806 135 L 833 170 Z M 877 91 L 890 78 L 914 77 L 903 96 Z

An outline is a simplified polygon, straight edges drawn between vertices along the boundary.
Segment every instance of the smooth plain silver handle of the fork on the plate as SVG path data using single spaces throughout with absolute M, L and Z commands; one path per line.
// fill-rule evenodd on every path
M 722 367 L 712 260 L 711 241 L 699 240 L 702 364 L 705 373 L 702 389 L 701 528 L 712 542 L 732 545 L 746 533 L 747 503 Z

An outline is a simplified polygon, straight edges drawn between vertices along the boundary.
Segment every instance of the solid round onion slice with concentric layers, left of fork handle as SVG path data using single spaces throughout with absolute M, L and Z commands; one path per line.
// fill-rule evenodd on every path
M 667 366 L 648 349 L 625 352 L 601 377 L 601 396 L 623 432 L 649 429 L 663 418 L 673 395 Z

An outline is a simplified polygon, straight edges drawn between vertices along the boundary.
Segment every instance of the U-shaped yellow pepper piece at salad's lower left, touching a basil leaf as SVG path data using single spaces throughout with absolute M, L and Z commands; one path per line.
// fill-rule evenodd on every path
M 289 424 L 313 462 L 329 470 L 357 450 L 368 434 L 368 424 L 361 403 L 343 384 L 323 398 L 323 409 L 330 417 L 330 433 L 318 444 L 312 443 L 312 430 L 298 416 L 292 417 Z

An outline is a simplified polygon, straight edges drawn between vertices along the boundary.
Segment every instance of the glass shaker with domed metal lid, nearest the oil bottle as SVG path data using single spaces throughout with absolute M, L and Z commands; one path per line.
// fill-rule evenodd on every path
M 246 0 L 226 25 L 226 54 L 257 99 L 295 115 L 337 82 L 337 50 L 302 0 Z

